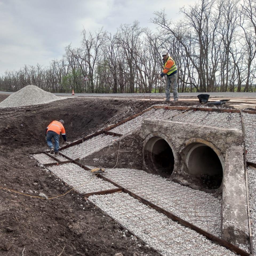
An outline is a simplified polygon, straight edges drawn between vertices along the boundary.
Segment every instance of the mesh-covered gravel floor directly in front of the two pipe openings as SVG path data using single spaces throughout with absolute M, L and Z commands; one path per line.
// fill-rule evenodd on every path
M 166 181 L 135 169 L 106 169 L 105 177 L 170 211 L 178 217 L 221 237 L 221 200 L 209 193 Z

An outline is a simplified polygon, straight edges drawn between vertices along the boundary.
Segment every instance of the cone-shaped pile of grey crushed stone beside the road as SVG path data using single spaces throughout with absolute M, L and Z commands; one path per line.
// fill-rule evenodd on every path
M 2 101 L 0 108 L 46 104 L 65 98 L 67 97 L 58 97 L 40 89 L 38 86 L 27 85 Z

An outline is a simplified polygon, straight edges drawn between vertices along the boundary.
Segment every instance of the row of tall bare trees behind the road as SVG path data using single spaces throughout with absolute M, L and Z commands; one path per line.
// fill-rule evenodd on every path
M 66 47 L 48 67 L 6 71 L 0 88 L 17 91 L 33 84 L 52 92 L 163 92 L 161 50 L 178 66 L 179 92 L 256 91 L 256 0 L 201 0 L 180 9 L 179 21 L 164 10 L 151 22 L 121 25 L 115 34 L 83 30 L 81 47 Z

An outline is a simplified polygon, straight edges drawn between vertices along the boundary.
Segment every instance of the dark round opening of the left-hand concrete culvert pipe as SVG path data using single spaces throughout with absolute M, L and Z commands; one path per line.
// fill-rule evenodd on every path
M 143 153 L 147 170 L 162 177 L 170 177 L 174 169 L 174 155 L 165 139 L 151 137 L 145 144 Z

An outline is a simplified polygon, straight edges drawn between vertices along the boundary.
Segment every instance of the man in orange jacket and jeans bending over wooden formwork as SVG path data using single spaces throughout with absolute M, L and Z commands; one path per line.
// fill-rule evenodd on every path
M 65 143 L 67 145 L 69 145 L 69 143 L 67 142 L 67 138 L 66 138 L 66 132 L 65 132 L 65 128 L 63 126 L 64 121 L 63 120 L 59 120 L 59 121 L 52 121 L 48 127 L 46 128 L 46 142 L 47 145 L 49 146 L 51 152 L 50 154 L 54 155 L 58 155 L 59 154 L 59 135 L 62 135 L 62 138 L 64 139 Z M 53 143 L 52 143 L 52 138 L 54 140 L 54 148 L 53 148 Z

